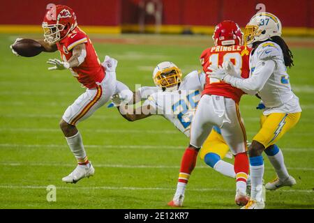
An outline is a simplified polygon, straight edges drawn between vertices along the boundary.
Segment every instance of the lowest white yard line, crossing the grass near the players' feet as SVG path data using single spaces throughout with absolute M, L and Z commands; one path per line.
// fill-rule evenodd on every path
M 0 185 L 3 189 L 47 189 L 47 186 L 40 185 Z M 174 188 L 168 187 L 107 187 L 107 186 L 94 186 L 94 187 L 57 187 L 58 190 L 174 190 Z M 217 191 L 217 192 L 234 192 L 231 189 L 221 189 L 221 188 L 189 188 L 189 191 L 204 192 L 204 191 Z M 281 192 L 292 192 L 292 193 L 312 193 L 313 190 L 281 190 Z

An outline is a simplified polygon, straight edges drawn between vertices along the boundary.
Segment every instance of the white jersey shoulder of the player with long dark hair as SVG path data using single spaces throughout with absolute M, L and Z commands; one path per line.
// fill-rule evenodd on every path
M 276 58 L 281 58 L 281 47 L 273 42 L 265 42 L 257 47 L 256 50 L 258 59 L 267 61 Z

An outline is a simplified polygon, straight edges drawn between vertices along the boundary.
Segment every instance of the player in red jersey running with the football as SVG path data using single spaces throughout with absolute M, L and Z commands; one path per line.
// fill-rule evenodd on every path
M 60 128 L 78 163 L 74 171 L 62 180 L 66 183 L 76 183 L 82 178 L 93 176 L 95 171 L 87 158 L 82 136 L 76 128 L 77 123 L 89 118 L 96 109 L 105 105 L 114 93 L 130 90 L 116 79 L 117 60 L 106 56 L 104 63 L 100 63 L 91 40 L 77 26 L 76 15 L 71 8 L 57 5 L 48 9 L 42 26 L 45 40 L 37 40 L 38 43 L 45 48 L 45 52 L 59 50 L 61 54 L 61 61 L 47 61 L 52 64 L 48 70 L 68 69 L 73 77 L 87 88 L 85 93 L 66 109 L 60 122 Z M 13 53 L 17 54 L 14 50 Z M 131 91 L 130 95 L 133 95 Z

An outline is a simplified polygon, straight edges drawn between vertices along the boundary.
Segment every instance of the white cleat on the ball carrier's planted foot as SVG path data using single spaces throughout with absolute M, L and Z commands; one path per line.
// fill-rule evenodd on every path
M 77 183 L 78 180 L 82 178 L 89 178 L 95 173 L 94 167 L 89 162 L 89 165 L 77 165 L 77 167 L 68 176 L 62 178 L 65 183 Z

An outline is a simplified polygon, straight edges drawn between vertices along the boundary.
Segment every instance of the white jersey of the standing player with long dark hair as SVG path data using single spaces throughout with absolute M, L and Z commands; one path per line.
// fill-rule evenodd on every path
M 283 51 L 278 44 L 271 41 L 260 44 L 251 53 L 250 70 L 248 79 L 228 77 L 227 82 L 244 91 L 257 91 L 266 106 L 264 115 L 301 112 L 299 98 L 292 92 Z

